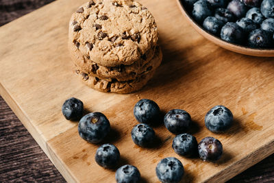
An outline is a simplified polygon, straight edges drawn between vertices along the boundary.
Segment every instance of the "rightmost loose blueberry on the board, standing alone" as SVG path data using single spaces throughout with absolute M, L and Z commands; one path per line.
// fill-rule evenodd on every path
M 225 106 L 214 106 L 205 117 L 205 123 L 211 132 L 225 132 L 232 126 L 233 114 Z

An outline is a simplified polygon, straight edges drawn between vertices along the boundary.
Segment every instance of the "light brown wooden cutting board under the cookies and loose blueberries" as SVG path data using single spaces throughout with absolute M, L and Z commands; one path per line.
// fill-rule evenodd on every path
M 68 182 L 114 182 L 115 171 L 95 163 L 99 145 L 79 137 L 77 123 L 66 121 L 65 99 L 84 101 L 86 112 L 103 112 L 112 132 L 105 143 L 121 152 L 121 164 L 134 164 L 143 182 L 159 182 L 156 164 L 174 156 L 184 164 L 182 182 L 225 182 L 274 152 L 274 59 L 242 56 L 221 49 L 197 34 L 175 0 L 141 1 L 155 16 L 164 60 L 145 88 L 129 95 L 100 93 L 84 86 L 72 71 L 67 51 L 68 23 L 86 0 L 59 0 L 0 28 L 0 92 L 30 134 Z M 198 141 L 214 136 L 224 154 L 215 163 L 188 159 L 171 148 L 174 135 L 155 127 L 153 149 L 134 145 L 134 104 L 153 99 L 163 112 L 188 111 Z M 209 132 L 203 122 L 215 105 L 232 110 L 235 121 L 225 134 Z M 20 137 L 18 137 L 20 138 Z

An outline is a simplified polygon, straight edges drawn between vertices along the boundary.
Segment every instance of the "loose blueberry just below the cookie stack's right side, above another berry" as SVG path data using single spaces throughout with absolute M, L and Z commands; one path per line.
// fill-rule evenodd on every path
M 134 106 L 134 117 L 139 123 L 158 123 L 160 108 L 150 99 L 141 99 Z

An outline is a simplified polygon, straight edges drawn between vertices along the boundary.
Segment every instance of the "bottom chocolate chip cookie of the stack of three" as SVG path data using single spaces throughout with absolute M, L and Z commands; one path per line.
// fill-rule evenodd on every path
M 82 79 L 82 81 L 89 86 L 90 88 L 94 88 L 96 90 L 102 92 L 112 92 L 112 93 L 133 93 L 136 90 L 140 90 L 147 82 L 151 79 L 154 71 L 149 71 L 146 74 L 140 75 L 136 77 L 135 80 L 130 80 L 126 82 L 118 82 L 115 79 L 103 80 L 99 77 L 95 77 L 92 75 L 88 75 L 83 71 L 78 71 L 76 74 Z

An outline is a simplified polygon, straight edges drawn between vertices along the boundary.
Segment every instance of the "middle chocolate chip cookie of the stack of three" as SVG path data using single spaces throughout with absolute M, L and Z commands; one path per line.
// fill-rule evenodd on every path
M 72 58 L 77 70 L 85 71 L 88 75 L 93 75 L 103 79 L 115 78 L 121 82 L 134 80 L 136 77 L 147 73 L 148 71 L 155 70 L 160 65 L 162 61 L 162 51 L 160 47 L 157 46 L 150 52 L 155 52 L 151 60 L 145 60 L 145 58 L 142 58 L 140 62 L 134 62 L 132 65 L 121 64 L 120 66 L 113 67 L 101 66 L 91 60 L 85 60 L 85 58 L 81 56 L 74 55 Z

